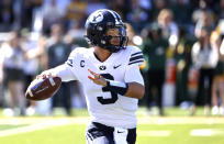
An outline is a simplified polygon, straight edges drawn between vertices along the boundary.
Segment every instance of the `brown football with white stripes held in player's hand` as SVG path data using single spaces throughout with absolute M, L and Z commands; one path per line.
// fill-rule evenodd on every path
M 45 100 L 57 92 L 60 84 L 59 77 L 34 79 L 25 92 L 25 98 L 35 101 Z

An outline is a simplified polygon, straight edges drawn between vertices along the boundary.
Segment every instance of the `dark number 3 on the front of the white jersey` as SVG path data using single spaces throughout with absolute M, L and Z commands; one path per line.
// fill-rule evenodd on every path
M 102 77 L 110 79 L 110 80 L 114 80 L 113 76 L 111 74 L 101 74 Z M 103 92 L 111 92 L 111 98 L 109 99 L 103 99 L 103 97 L 98 97 L 98 101 L 101 104 L 111 104 L 111 103 L 115 103 L 116 100 L 119 99 L 117 95 L 115 92 L 110 91 L 107 88 L 102 88 Z

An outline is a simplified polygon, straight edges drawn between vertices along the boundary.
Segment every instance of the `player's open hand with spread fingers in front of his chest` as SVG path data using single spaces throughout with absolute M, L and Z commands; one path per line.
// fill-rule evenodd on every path
M 103 87 L 107 86 L 107 80 L 100 74 L 96 74 L 92 70 L 88 69 L 92 76 L 88 76 L 90 80 L 92 80 L 97 85 L 101 85 Z

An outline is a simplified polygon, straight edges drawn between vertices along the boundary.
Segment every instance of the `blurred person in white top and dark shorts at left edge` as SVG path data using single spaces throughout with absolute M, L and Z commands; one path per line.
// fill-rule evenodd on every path
M 24 81 L 24 52 L 21 48 L 20 36 L 18 32 L 11 32 L 9 42 L 1 47 L 2 66 L 4 75 L 4 85 L 9 90 L 10 109 L 5 111 L 9 115 L 25 114 L 25 98 L 23 92 Z M 18 109 L 19 108 L 19 109 Z

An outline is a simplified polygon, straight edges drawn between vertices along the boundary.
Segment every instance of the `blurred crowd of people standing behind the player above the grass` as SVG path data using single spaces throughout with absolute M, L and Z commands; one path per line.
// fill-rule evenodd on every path
M 194 115 L 224 115 L 224 0 L 1 0 L 0 108 L 7 117 L 52 115 L 61 108 L 85 109 L 82 86 L 63 84 L 51 99 L 24 98 L 41 71 L 64 64 L 76 47 L 89 47 L 87 16 L 116 11 L 126 24 L 128 45 L 145 57 L 146 93 L 139 106 L 148 115 L 178 107 Z

